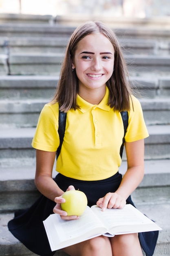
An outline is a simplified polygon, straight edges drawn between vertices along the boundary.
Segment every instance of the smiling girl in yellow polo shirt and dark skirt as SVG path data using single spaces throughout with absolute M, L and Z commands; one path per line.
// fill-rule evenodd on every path
M 52 169 L 60 144 L 59 109 L 67 113 L 55 179 Z M 122 178 L 120 148 L 124 137 L 121 111 L 128 112 L 125 135 L 127 171 Z M 52 212 L 64 220 L 62 194 L 79 189 L 88 205 L 123 208 L 144 177 L 144 138 L 148 131 L 139 101 L 132 96 L 128 71 L 113 31 L 101 22 L 78 27 L 68 43 L 57 90 L 44 106 L 32 146 L 36 148 L 35 185 L 42 193 L 33 206 L 17 213 L 10 231 L 30 250 L 52 256 L 42 220 Z M 99 236 L 64 248 L 70 256 L 152 256 L 158 232 Z M 35 242 L 33 243 L 35 239 Z

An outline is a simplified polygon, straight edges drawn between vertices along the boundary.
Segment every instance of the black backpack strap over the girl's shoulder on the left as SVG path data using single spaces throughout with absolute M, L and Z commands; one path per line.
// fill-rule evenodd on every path
M 66 113 L 59 110 L 58 133 L 59 133 L 59 137 L 60 137 L 60 145 L 57 148 L 56 159 L 60 155 L 60 150 L 62 148 L 62 142 L 63 142 L 63 139 L 64 139 L 65 128 L 66 128 Z

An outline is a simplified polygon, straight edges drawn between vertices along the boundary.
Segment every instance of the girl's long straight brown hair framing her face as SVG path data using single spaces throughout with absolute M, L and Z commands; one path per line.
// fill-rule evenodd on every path
M 115 33 L 102 22 L 86 22 L 80 25 L 73 32 L 68 46 L 66 48 L 65 58 L 62 64 L 60 78 L 55 91 L 55 95 L 51 103 L 58 102 L 60 110 L 67 112 L 68 110 L 79 108 L 77 106 L 78 78 L 76 71 L 72 72 L 72 60 L 75 57 L 77 44 L 85 36 L 89 34 L 101 33 L 110 40 L 115 51 L 115 61 L 112 76 L 106 85 L 109 89 L 108 105 L 119 112 L 122 110 L 130 110 L 131 89 L 128 79 L 128 69 L 121 51 L 121 47 L 115 36 Z

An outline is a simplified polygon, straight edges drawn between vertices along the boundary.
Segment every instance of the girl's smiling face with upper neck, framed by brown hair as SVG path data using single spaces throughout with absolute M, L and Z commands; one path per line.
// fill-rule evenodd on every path
M 90 34 L 77 44 L 72 67 L 79 79 L 79 95 L 86 100 L 91 92 L 105 94 L 113 74 L 114 48 L 101 33 Z

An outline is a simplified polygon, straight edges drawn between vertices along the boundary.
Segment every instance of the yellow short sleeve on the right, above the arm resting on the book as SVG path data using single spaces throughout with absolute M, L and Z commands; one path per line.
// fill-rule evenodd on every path
M 145 139 L 149 136 L 139 100 L 132 96 L 132 103 L 131 110 L 128 112 L 128 128 L 125 135 L 127 142 Z

